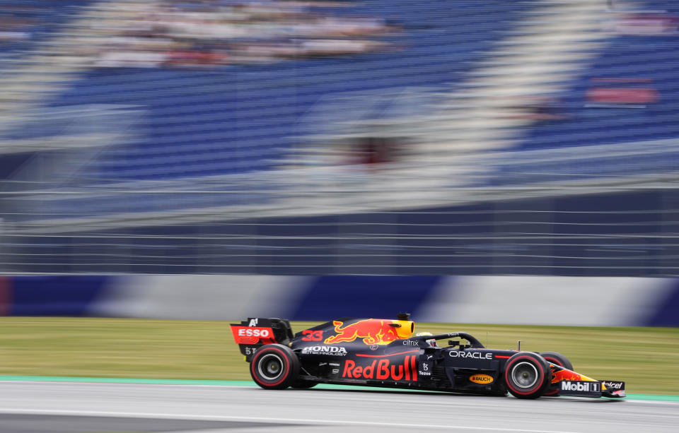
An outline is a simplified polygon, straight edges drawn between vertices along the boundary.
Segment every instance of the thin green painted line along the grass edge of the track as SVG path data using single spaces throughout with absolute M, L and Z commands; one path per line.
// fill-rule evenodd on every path
M 189 380 L 189 379 L 127 379 L 120 377 L 61 377 L 61 376 L 0 376 L 0 381 L 35 381 L 35 382 L 83 382 L 100 384 L 157 384 L 157 385 L 211 385 L 211 386 L 257 386 L 253 381 L 215 381 L 215 380 Z M 349 385 L 328 385 L 320 384 L 316 388 L 322 389 L 356 389 L 356 386 Z M 377 388 L 371 386 L 373 390 L 388 391 L 409 391 L 395 390 L 394 388 Z M 410 390 L 421 391 L 421 390 Z M 679 396 L 658 396 L 653 394 L 627 394 L 629 400 L 648 400 L 648 401 L 677 401 Z

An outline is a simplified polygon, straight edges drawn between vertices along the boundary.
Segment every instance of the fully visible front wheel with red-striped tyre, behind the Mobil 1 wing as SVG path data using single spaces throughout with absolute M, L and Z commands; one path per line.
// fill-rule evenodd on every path
M 516 398 L 538 398 L 551 381 L 550 363 L 537 353 L 518 352 L 504 365 L 507 391 Z

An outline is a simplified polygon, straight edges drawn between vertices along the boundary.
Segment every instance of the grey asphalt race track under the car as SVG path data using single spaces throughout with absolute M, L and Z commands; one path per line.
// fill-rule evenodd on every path
M 663 433 L 679 401 L 0 381 L 0 432 Z

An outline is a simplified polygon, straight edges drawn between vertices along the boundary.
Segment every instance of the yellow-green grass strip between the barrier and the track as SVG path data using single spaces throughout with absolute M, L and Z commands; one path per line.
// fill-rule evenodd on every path
M 0 376 L 250 380 L 228 324 L 2 317 Z M 467 331 L 492 348 L 522 340 L 522 350 L 562 352 L 587 376 L 624 380 L 628 393 L 679 393 L 676 328 L 416 324 L 415 331 Z

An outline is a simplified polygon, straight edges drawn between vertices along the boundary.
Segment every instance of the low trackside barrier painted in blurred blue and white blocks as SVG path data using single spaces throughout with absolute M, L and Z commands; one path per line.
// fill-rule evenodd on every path
M 574 326 L 679 326 L 679 279 L 543 276 L 4 277 L 0 314 L 233 320 L 342 316 Z

